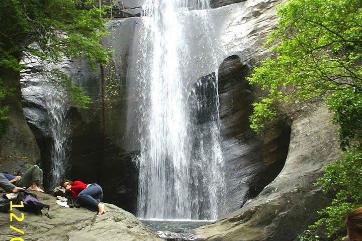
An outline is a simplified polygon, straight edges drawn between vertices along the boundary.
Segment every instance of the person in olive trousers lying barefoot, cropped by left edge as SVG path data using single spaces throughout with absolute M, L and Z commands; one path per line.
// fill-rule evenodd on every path
M 43 170 L 37 165 L 29 168 L 23 176 L 14 176 L 8 173 L 2 174 L 17 187 L 26 187 L 32 191 L 44 192 L 43 189 L 39 187 L 43 185 Z

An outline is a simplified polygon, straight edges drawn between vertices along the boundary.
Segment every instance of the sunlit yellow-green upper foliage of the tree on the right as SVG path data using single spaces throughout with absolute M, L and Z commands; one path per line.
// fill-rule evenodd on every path
M 267 40 L 276 57 L 256 67 L 250 83 L 268 90 L 267 98 L 290 103 L 361 89 L 361 7 L 359 0 L 291 0 L 279 6 L 278 28 Z M 256 131 L 265 117 L 275 117 L 259 109 L 251 116 Z

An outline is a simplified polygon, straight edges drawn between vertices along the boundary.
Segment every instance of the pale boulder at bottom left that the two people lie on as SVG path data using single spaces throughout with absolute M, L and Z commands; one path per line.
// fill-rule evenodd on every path
M 15 217 L 10 221 L 9 213 L 0 212 L 0 238 L 10 240 L 21 237 L 24 240 L 56 240 L 56 241 L 161 241 L 157 233 L 143 225 L 134 215 L 123 209 L 105 203 L 107 213 L 97 215 L 96 212 L 85 208 L 65 208 L 56 204 L 56 198 L 42 193 L 36 193 L 45 204 L 50 205 L 49 215 L 24 213 L 24 220 L 17 221 Z M 21 217 L 21 210 L 13 212 Z M 10 228 L 10 225 L 24 231 L 24 234 Z

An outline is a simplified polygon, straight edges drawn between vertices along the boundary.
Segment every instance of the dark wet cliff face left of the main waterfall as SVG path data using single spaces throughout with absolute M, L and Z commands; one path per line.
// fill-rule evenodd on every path
M 88 109 L 70 106 L 66 113 L 70 128 L 68 131 L 71 132 L 69 136 L 71 145 L 67 150 L 69 161 L 66 177 L 88 183 L 98 182 L 104 189 L 105 201 L 115 203 L 129 211 L 134 211 L 136 205 L 138 174 L 132 162 L 132 153 L 122 150 L 118 143 L 122 141 L 124 133 L 125 115 L 122 113 L 127 108 L 122 91 L 124 91 L 128 48 L 132 42 L 132 35 L 125 33 L 132 33 L 134 25 L 134 20 L 131 19 L 110 23 L 110 29 L 113 29 L 110 38 L 119 42 L 117 44 L 109 41 L 106 45 L 115 44 L 114 48 L 123 52 L 112 58 L 110 67 L 104 70 L 104 78 L 101 70 L 92 70 L 85 60 L 64 60 L 62 64 L 56 66 L 68 73 L 73 83 L 84 89 L 93 100 Z M 118 73 L 114 72 L 114 66 L 118 68 Z M 29 66 L 29 69 L 23 73 L 21 83 L 25 116 L 41 150 L 42 169 L 44 173 L 49 174 L 50 153 L 54 141 L 49 124 L 54 117 L 48 108 L 49 83 L 44 81 L 43 68 L 44 66 L 40 64 Z M 101 101 L 103 81 L 106 88 L 104 104 Z M 107 95 L 109 83 L 117 86 L 115 96 Z M 67 98 L 65 94 L 63 98 Z M 47 186 L 49 178 L 49 175 L 45 175 L 44 183 L 47 189 L 52 189 L 53 187 Z

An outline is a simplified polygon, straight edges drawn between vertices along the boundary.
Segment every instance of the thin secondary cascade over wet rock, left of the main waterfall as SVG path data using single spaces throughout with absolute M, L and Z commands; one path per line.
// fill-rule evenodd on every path
M 49 188 L 53 188 L 65 178 L 68 168 L 69 137 L 72 131 L 66 119 L 66 113 L 69 110 L 68 96 L 61 85 L 55 84 L 54 76 L 51 74 L 54 69 L 59 69 L 59 66 L 44 63 L 38 57 L 31 55 L 23 61 L 28 68 L 22 73 L 21 82 L 23 85 L 31 86 L 29 90 L 22 89 L 23 97 L 46 109 L 49 119 L 49 123 L 43 124 L 46 126 L 38 128 L 47 130 L 44 135 L 52 138 Z M 64 63 L 66 63 L 65 59 Z

